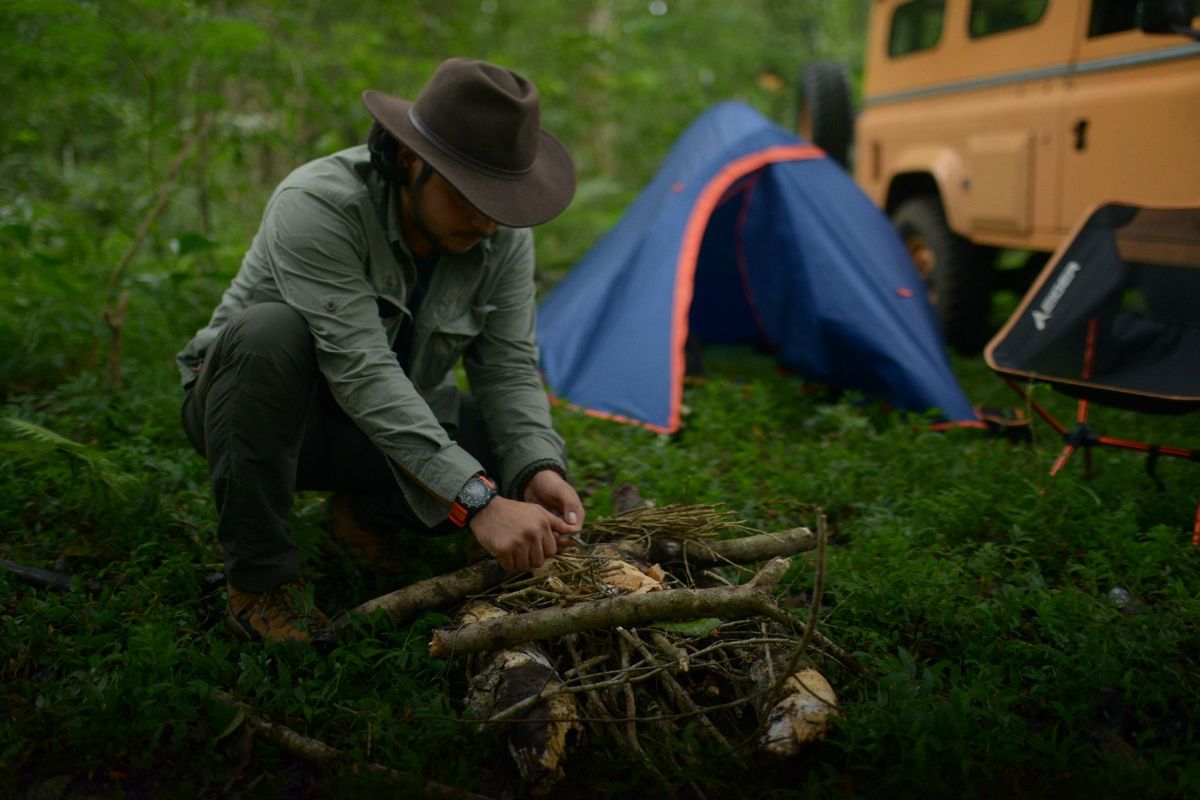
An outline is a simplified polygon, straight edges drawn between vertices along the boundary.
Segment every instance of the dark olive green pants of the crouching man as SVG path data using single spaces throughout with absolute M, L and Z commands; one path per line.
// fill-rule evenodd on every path
M 469 395 L 446 433 L 492 465 Z M 360 522 L 426 533 L 383 455 L 338 407 L 317 369 L 304 318 L 283 303 L 251 306 L 226 325 L 184 392 L 184 429 L 209 462 L 226 579 L 270 591 L 300 577 L 288 529 L 296 491 L 344 491 Z

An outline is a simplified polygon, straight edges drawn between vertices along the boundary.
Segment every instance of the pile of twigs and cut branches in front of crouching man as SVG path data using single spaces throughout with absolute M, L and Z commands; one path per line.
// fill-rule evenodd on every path
M 665 506 L 598 521 L 583 539 L 533 576 L 475 596 L 431 643 L 434 655 L 472 654 L 470 708 L 505 723 L 534 794 L 564 775 L 581 735 L 607 734 L 658 771 L 680 766 L 661 759 L 691 754 L 656 746 L 652 764 L 643 744 L 678 742 L 685 728 L 719 747 L 776 756 L 824 734 L 836 698 L 808 645 L 848 656 L 815 631 L 823 524 L 817 536 L 762 534 L 718 506 Z M 805 622 L 773 590 L 788 567 L 778 557 L 806 549 L 817 549 L 818 577 Z M 730 581 L 731 570 L 691 569 L 745 569 L 745 557 L 768 560 L 746 583 Z

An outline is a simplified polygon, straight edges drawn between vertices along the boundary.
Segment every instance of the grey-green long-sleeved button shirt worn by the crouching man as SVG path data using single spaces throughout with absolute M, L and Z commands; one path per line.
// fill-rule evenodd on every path
M 566 461 L 538 372 L 533 233 L 500 228 L 469 253 L 442 255 L 406 374 L 391 345 L 410 317 L 416 267 L 394 203 L 366 146 L 296 169 L 271 196 L 241 269 L 178 362 L 186 386 L 235 312 L 288 303 L 308 321 L 334 397 L 389 457 L 413 510 L 433 525 L 482 469 L 440 425 L 458 416 L 460 356 L 503 491 L 516 492 L 515 481 L 535 463 L 565 470 Z

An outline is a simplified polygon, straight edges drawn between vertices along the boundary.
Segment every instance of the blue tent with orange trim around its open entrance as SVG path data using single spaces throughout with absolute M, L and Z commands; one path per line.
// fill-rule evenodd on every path
M 973 420 L 925 288 L 834 162 L 756 110 L 701 115 L 539 309 L 559 398 L 679 427 L 684 345 L 764 342 L 806 379 Z

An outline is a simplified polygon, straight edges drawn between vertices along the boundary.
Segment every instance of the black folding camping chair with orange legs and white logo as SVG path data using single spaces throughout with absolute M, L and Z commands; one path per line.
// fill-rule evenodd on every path
M 1102 205 L 1086 217 L 1026 293 L 984 353 L 988 366 L 1063 440 L 1050 474 L 1092 447 L 1160 456 L 1200 451 L 1118 439 L 1088 423 L 1088 404 L 1148 414 L 1200 409 L 1200 207 Z M 1079 399 L 1075 425 L 1058 422 L 1019 381 L 1044 381 Z M 1192 543 L 1200 547 L 1200 504 Z

